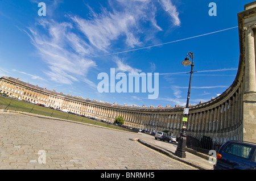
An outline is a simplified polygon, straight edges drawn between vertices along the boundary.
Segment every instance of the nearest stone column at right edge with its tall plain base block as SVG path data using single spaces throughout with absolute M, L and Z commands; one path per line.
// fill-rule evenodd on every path
M 243 94 L 243 107 L 242 107 L 242 123 L 243 133 L 242 140 L 256 142 L 256 75 L 255 75 L 255 25 L 256 2 L 253 2 L 246 11 L 246 16 L 243 16 L 245 26 L 245 84 Z M 254 10 L 253 10 L 254 9 Z M 250 14 L 250 15 L 249 15 Z

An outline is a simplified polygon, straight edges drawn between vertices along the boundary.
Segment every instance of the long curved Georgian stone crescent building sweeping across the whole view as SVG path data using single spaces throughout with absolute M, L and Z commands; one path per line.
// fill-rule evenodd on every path
M 210 136 L 220 143 L 227 140 L 256 142 L 256 1 L 238 13 L 240 60 L 236 79 L 217 98 L 189 107 L 187 134 Z M 179 137 L 184 107 L 138 107 L 98 102 L 55 90 L 30 85 L 19 78 L 2 77 L 0 93 L 18 99 L 111 121 L 123 116 L 125 125 L 150 132 L 168 131 Z

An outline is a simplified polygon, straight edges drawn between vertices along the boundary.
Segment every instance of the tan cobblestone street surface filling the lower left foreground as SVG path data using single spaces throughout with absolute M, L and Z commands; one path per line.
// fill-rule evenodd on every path
M 195 169 L 134 138 L 154 137 L 1 112 L 0 169 Z

